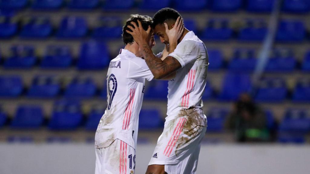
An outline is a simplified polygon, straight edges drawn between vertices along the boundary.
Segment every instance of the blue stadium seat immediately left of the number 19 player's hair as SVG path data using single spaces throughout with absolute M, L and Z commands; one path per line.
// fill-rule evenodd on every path
M 99 26 L 94 29 L 94 39 L 121 38 L 123 33 L 120 17 L 100 17 Z

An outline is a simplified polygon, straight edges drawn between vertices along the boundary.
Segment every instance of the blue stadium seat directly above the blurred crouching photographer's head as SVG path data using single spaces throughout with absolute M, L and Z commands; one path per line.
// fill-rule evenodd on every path
M 224 77 L 219 99 L 224 101 L 237 100 L 240 94 L 250 92 L 251 87 L 248 74 L 228 72 Z

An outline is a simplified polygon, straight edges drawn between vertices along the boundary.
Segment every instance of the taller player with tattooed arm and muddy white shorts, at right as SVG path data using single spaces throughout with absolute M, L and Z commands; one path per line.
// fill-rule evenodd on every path
M 135 42 L 154 78 L 176 73 L 168 82 L 168 109 L 162 135 L 158 138 L 146 174 L 192 174 L 196 172 L 201 139 L 206 132 L 206 116 L 202 111 L 201 96 L 207 77 L 208 54 L 204 43 L 193 33 L 184 29 L 180 38 L 170 35 L 175 21 L 181 15 L 171 8 L 163 8 L 153 16 L 154 32 L 162 43 L 169 44 L 166 59 L 157 59 L 147 31 L 133 24 L 128 26 Z M 185 26 L 186 27 L 186 26 Z

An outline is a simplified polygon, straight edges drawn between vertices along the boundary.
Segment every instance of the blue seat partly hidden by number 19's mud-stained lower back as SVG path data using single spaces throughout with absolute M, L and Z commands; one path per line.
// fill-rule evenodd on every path
M 86 129 L 96 130 L 103 114 L 104 114 L 104 108 L 93 107 L 91 113 L 88 115 L 88 119 L 86 122 Z

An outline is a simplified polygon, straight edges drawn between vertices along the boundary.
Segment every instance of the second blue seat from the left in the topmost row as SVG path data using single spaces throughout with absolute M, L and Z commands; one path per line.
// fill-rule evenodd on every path
M 32 8 L 36 10 L 57 10 L 64 3 L 64 0 L 34 0 Z

